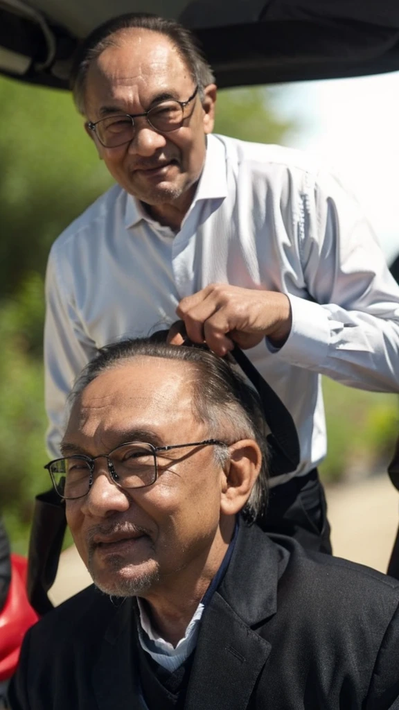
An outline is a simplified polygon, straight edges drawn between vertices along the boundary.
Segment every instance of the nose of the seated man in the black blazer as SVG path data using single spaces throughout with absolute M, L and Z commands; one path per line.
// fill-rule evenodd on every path
M 130 505 L 129 494 L 111 479 L 106 458 L 97 459 L 92 487 L 82 498 L 82 513 L 92 518 L 107 518 L 116 512 L 123 513 Z

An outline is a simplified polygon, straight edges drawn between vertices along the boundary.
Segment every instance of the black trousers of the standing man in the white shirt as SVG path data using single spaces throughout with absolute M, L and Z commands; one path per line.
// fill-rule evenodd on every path
M 327 503 L 317 469 L 270 488 L 268 509 L 260 525 L 267 532 L 295 537 L 307 550 L 331 555 Z

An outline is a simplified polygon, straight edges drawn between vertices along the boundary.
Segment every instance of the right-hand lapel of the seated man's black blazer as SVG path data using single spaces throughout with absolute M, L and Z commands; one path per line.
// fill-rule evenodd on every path
M 277 611 L 285 551 L 241 523 L 219 590 L 204 611 L 185 710 L 246 710 L 271 645 L 251 626 Z

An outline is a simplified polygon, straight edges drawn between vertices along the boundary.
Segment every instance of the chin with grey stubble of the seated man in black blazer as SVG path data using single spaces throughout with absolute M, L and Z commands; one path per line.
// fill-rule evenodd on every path
M 89 574 L 97 589 L 109 596 L 143 596 L 151 591 L 159 580 L 158 565 L 154 560 L 124 567 L 115 564 L 101 570 L 89 567 Z

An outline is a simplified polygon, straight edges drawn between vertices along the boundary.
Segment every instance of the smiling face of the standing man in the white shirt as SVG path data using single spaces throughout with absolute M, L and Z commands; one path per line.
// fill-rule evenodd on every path
M 141 114 L 167 97 L 185 102 L 195 91 L 192 72 L 170 40 L 157 32 L 132 28 L 116 35 L 116 46 L 93 60 L 87 73 L 85 105 L 89 121 L 116 114 Z M 136 136 L 99 155 L 121 187 L 149 205 L 175 204 L 187 209 L 200 178 L 205 135 L 213 129 L 212 84 L 204 100 L 185 108 L 181 128 L 157 133 L 145 117 L 135 119 Z

